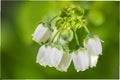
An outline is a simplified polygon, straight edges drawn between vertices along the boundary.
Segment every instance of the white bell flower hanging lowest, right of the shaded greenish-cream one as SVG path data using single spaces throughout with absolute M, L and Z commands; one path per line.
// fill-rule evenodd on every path
M 85 71 L 89 67 L 89 57 L 86 50 L 80 50 L 78 53 L 72 53 L 74 67 L 79 71 Z

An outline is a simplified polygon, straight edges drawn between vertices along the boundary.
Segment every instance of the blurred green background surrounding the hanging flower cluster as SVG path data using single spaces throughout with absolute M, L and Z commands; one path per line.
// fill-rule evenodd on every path
M 89 30 L 104 41 L 97 66 L 83 72 L 76 72 L 73 63 L 68 72 L 36 63 L 40 46 L 32 41 L 32 33 L 41 20 L 68 4 L 85 9 Z M 119 78 L 119 2 L 2 1 L 1 9 L 1 78 Z

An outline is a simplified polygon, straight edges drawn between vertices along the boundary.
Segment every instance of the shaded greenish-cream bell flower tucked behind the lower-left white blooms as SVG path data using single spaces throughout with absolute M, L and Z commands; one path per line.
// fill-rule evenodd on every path
M 63 53 L 63 57 L 62 57 L 59 65 L 56 67 L 56 69 L 60 70 L 60 71 L 67 72 L 67 69 L 70 66 L 71 61 L 72 61 L 71 54 L 69 54 L 69 53 Z

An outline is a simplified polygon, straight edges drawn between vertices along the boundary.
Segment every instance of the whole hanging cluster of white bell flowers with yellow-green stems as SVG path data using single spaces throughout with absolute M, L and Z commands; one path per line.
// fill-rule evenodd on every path
M 65 72 L 71 61 L 77 72 L 96 66 L 98 57 L 102 54 L 101 40 L 98 36 L 91 35 L 83 14 L 84 11 L 80 7 L 65 7 L 60 15 L 38 25 L 32 35 L 33 40 L 41 45 L 37 54 L 37 63 Z M 52 24 L 53 20 L 55 20 L 54 24 Z M 83 40 L 79 40 L 77 33 L 81 28 L 85 31 L 80 34 L 87 32 Z M 71 43 L 74 39 L 76 46 L 73 47 Z

